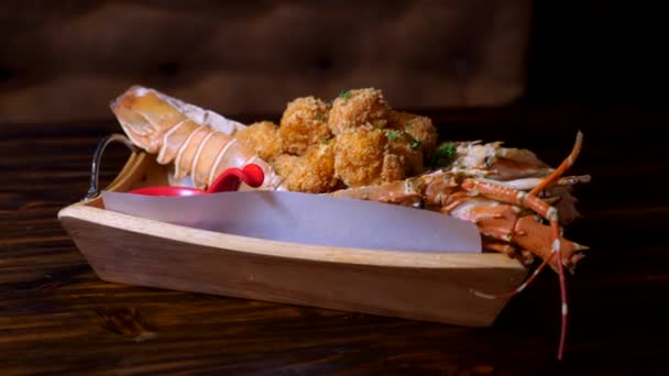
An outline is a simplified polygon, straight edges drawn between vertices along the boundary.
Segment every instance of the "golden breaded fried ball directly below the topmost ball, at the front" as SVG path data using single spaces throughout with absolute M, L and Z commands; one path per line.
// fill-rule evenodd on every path
M 371 125 L 352 128 L 337 136 L 334 173 L 348 187 L 380 180 L 387 137 Z

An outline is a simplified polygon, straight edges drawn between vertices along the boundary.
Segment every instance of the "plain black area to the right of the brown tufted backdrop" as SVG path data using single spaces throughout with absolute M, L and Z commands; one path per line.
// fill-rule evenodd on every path
M 535 1 L 522 102 L 661 106 L 668 33 L 658 8 L 651 1 Z

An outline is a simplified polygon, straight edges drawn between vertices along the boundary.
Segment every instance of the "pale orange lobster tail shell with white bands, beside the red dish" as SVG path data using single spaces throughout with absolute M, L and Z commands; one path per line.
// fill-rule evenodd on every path
M 129 88 L 110 107 L 133 144 L 157 154 L 160 164 L 173 163 L 177 180 L 189 175 L 205 188 L 222 170 L 254 163 L 265 174 L 261 189 L 279 186 L 272 167 L 234 139 L 245 128 L 241 123 L 141 86 Z

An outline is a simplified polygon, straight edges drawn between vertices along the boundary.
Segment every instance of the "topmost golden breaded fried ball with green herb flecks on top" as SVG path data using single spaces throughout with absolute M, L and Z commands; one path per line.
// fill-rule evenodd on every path
M 390 108 L 381 90 L 374 88 L 344 91 L 332 102 L 328 125 L 332 134 L 344 130 L 372 124 L 384 128 Z

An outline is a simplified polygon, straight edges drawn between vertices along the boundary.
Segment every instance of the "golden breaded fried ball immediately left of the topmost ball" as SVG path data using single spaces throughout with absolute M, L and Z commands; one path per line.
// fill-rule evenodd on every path
M 278 129 L 284 152 L 303 155 L 310 145 L 329 140 L 328 112 L 328 104 L 311 96 L 288 102 Z

